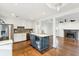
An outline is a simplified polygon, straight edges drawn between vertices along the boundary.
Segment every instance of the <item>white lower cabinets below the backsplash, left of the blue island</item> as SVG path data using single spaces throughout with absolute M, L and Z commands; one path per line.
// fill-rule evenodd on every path
M 27 40 L 26 33 L 15 33 L 14 34 L 14 42 Z

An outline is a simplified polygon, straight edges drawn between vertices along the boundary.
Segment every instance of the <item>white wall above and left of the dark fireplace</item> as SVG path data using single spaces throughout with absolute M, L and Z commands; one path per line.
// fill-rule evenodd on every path
M 79 30 L 79 22 L 59 24 L 57 36 L 64 37 L 64 29 Z

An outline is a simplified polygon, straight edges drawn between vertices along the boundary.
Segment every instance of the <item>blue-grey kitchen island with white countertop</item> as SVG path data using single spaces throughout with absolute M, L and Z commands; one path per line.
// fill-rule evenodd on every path
M 38 51 L 41 52 L 48 48 L 49 35 L 31 33 L 30 39 L 31 39 L 32 46 L 36 48 Z

